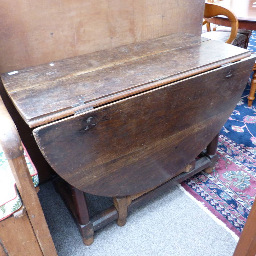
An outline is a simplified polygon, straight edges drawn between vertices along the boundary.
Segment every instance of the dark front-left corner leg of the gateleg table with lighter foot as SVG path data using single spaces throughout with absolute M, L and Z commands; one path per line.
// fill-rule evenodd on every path
M 70 190 L 76 210 L 77 220 L 80 225 L 79 230 L 81 232 L 81 235 L 83 236 L 84 244 L 91 245 L 94 240 L 94 229 L 92 222 L 90 220 L 86 199 L 84 197 L 84 192 L 71 185 Z

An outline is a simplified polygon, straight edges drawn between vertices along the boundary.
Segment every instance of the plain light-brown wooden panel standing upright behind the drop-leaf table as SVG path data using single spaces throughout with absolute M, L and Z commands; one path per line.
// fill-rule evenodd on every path
M 1 0 L 0 5 L 0 73 L 178 31 L 200 35 L 204 12 L 204 0 Z

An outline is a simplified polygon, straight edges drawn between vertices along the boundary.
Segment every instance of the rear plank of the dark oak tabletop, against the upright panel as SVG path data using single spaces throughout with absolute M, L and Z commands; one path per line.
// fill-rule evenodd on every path
M 182 40 L 180 40 L 182 37 Z M 54 66 L 44 63 L 36 67 L 23 68 L 18 74 L 2 74 L 5 84 L 13 84 L 17 90 L 25 87 L 47 84 L 56 80 L 72 78 L 102 68 L 119 65 L 132 60 L 145 58 L 161 52 L 170 51 L 186 45 L 196 44 L 209 39 L 185 33 L 175 33 L 143 42 L 127 44 L 104 51 L 92 52 L 73 58 L 54 61 Z

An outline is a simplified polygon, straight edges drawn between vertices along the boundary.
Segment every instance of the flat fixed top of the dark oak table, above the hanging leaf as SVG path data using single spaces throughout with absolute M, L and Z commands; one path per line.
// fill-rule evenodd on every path
M 182 35 L 4 74 L 3 84 L 20 115 L 35 127 L 251 55 L 197 36 L 180 40 Z

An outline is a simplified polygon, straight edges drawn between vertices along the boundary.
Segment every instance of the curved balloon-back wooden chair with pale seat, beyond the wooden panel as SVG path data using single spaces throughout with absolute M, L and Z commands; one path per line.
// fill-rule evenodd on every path
M 211 31 L 211 27 L 210 27 L 211 18 L 218 15 L 224 15 L 229 19 L 231 23 L 230 32 L 229 31 Z M 206 24 L 208 32 L 203 33 L 202 34 L 203 37 L 220 41 L 220 42 L 225 42 L 227 44 L 233 44 L 233 45 L 244 48 L 244 44 L 247 39 L 247 36 L 244 34 L 237 33 L 238 20 L 234 12 L 231 12 L 230 10 L 219 5 L 206 3 L 205 9 L 204 9 L 203 25 L 204 24 Z

